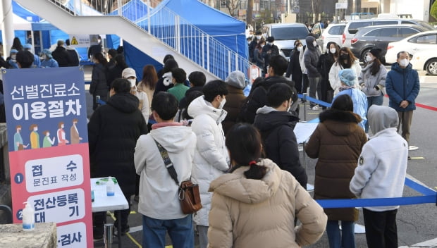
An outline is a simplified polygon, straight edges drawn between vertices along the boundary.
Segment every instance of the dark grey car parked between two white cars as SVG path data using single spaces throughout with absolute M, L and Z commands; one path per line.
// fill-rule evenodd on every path
M 387 45 L 405 37 L 424 32 L 426 29 L 419 25 L 380 25 L 377 27 L 362 27 L 351 39 L 350 51 L 364 61 L 370 49 L 381 49 L 381 58 L 384 58 Z M 383 59 L 384 61 L 384 59 Z

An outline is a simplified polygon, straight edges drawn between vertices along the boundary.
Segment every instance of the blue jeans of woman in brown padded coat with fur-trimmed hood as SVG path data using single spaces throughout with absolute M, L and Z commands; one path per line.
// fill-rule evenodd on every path
M 341 221 L 341 235 L 338 221 L 328 221 L 326 233 L 328 234 L 329 248 L 355 248 L 355 223 Z

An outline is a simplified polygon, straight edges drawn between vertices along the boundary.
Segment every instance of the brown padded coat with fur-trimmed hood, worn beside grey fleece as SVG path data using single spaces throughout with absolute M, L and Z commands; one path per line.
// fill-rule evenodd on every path
M 309 138 L 305 151 L 316 163 L 314 199 L 352 199 L 349 190 L 361 149 L 367 142 L 357 125 L 361 118 L 350 111 L 320 113 L 320 123 Z M 355 208 L 324 209 L 329 221 L 357 221 Z

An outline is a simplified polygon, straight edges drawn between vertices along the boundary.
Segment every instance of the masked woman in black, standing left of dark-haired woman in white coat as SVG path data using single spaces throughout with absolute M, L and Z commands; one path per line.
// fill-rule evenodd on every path
M 329 70 L 331 70 L 333 63 L 337 61 L 339 50 L 340 46 L 338 46 L 336 42 L 328 42 L 326 45 L 326 53 L 320 56 L 319 63 L 317 63 L 317 69 L 321 74 L 321 100 L 327 103 L 331 103 L 334 97 L 334 90 L 329 84 Z M 326 106 L 322 106 L 322 109 L 325 110 Z

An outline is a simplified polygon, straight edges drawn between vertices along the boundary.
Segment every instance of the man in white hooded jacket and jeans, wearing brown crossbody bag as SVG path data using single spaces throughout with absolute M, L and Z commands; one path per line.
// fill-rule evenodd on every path
M 135 168 L 140 175 L 142 214 L 142 247 L 164 247 L 166 232 L 173 247 L 194 247 L 192 215 L 180 209 L 178 185 L 171 178 L 159 143 L 168 153 L 179 182 L 190 179 L 196 148 L 196 135 L 190 127 L 173 122 L 178 100 L 168 92 L 159 92 L 152 100 L 156 124 L 147 135 L 141 135 L 135 147 Z

